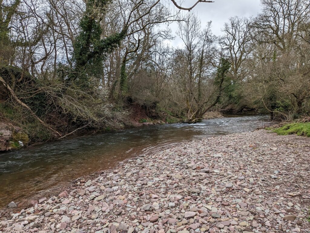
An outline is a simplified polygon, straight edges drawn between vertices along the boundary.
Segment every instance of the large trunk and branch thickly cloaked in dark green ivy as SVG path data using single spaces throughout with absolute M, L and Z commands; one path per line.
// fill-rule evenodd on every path
M 89 0 L 80 22 L 81 31 L 73 44 L 74 71 L 68 72 L 68 81 L 88 89 L 91 78 L 100 79 L 103 61 L 126 36 L 126 27 L 119 33 L 102 36 L 101 21 L 109 0 Z

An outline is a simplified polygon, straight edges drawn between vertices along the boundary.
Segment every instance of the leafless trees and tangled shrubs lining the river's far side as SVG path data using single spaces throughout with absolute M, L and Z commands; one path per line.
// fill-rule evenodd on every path
M 171 1 L 1 1 L 1 150 L 208 111 L 309 114 L 308 0 L 262 0 L 219 37 Z

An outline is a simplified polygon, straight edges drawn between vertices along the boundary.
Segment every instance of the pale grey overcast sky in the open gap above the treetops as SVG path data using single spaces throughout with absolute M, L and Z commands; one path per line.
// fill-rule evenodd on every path
M 260 0 L 213 0 L 212 3 L 200 2 L 193 11 L 197 12 L 204 27 L 208 21 L 212 21 L 212 31 L 215 35 L 221 35 L 221 28 L 228 19 L 233 16 L 256 16 L 261 11 Z M 177 1 L 179 2 L 179 1 Z M 196 0 L 185 0 L 182 7 L 190 7 Z M 170 5 L 172 7 L 172 5 Z M 170 25 L 173 33 L 177 30 L 177 24 Z M 176 38 L 171 42 L 175 47 L 181 47 L 182 41 Z

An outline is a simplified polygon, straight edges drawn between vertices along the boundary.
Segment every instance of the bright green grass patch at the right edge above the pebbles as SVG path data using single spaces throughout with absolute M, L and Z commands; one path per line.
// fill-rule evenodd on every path
M 290 123 L 290 124 L 281 126 L 276 129 L 271 129 L 271 130 L 277 133 L 278 135 L 296 134 L 299 136 L 310 137 L 310 122 Z

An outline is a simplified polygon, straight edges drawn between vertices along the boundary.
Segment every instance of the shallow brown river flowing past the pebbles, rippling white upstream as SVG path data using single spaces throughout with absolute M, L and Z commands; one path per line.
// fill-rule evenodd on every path
M 270 122 L 269 122 L 270 123 Z M 267 116 L 229 116 L 197 124 L 143 126 L 50 142 L 0 154 L 0 207 L 51 195 L 53 187 L 115 166 L 156 146 L 195 138 L 248 132 Z M 59 190 L 58 190 L 59 191 Z

